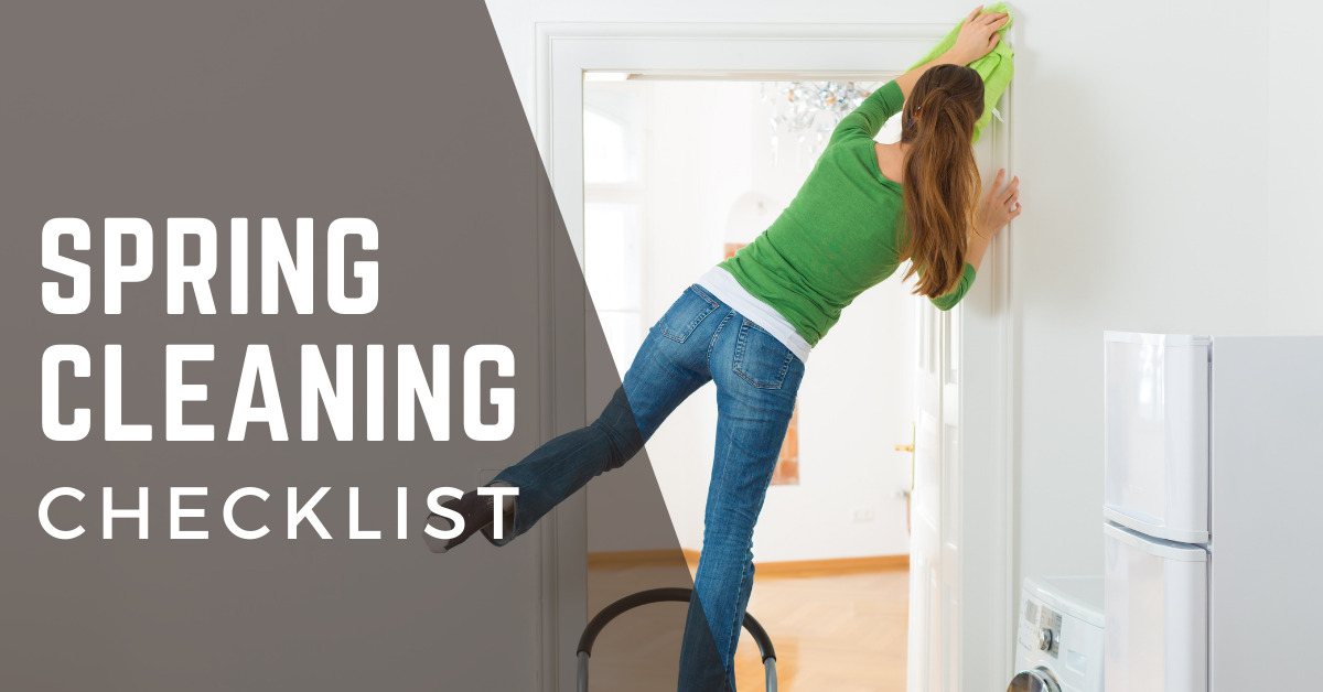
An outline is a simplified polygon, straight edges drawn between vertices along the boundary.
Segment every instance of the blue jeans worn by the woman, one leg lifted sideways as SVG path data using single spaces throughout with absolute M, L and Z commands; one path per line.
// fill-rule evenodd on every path
M 733 691 L 736 644 L 753 590 L 753 528 L 803 376 L 803 361 L 781 341 L 691 286 L 648 329 L 597 421 L 546 442 L 492 480 L 519 488 L 513 525 L 492 542 L 524 533 L 593 476 L 624 464 L 685 397 L 716 382 L 716 456 L 679 689 Z

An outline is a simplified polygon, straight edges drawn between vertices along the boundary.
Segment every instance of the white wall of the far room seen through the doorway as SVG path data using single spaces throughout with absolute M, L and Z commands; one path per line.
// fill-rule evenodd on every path
M 721 259 L 726 242 L 749 242 L 762 230 L 757 221 L 732 228 L 741 197 L 763 196 L 770 222 L 798 192 L 816 153 L 782 138 L 773 160 L 773 103 L 761 99 L 755 82 L 627 87 L 644 95 L 647 111 L 646 328 Z M 910 437 L 913 341 L 913 303 L 900 283 L 889 282 L 851 306 L 815 348 L 799 394 L 799 484 L 769 490 L 754 536 L 757 560 L 909 552 L 905 500 L 896 496 L 909 484 L 909 456 L 893 447 Z M 716 418 L 716 389 L 706 385 L 647 445 L 680 545 L 695 550 L 703 545 Z M 613 516 L 631 509 L 623 499 L 628 487 L 643 486 L 610 474 L 589 486 L 590 550 L 671 544 L 665 536 L 610 529 Z M 856 511 L 871 519 L 856 521 Z M 656 545 L 642 544 L 648 539 Z

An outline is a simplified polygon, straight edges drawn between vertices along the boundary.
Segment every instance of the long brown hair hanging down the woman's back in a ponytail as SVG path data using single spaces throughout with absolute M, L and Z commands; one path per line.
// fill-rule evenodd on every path
M 964 251 L 979 200 L 974 123 L 983 115 L 983 79 L 959 65 L 929 67 L 905 99 L 901 143 L 905 156 L 905 241 L 908 279 L 922 270 L 914 292 L 937 298 L 964 273 Z

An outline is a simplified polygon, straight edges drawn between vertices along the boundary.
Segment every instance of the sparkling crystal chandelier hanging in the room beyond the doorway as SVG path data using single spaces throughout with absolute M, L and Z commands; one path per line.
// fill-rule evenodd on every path
M 763 82 L 762 101 L 773 98 L 771 152 L 777 157 L 779 139 L 794 136 L 808 142 L 818 153 L 841 118 L 849 115 L 880 86 L 880 82 Z

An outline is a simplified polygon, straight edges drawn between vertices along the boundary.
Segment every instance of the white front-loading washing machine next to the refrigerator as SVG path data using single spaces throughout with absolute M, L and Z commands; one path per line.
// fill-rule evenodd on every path
M 1102 692 L 1102 577 L 1024 580 L 1007 692 Z

